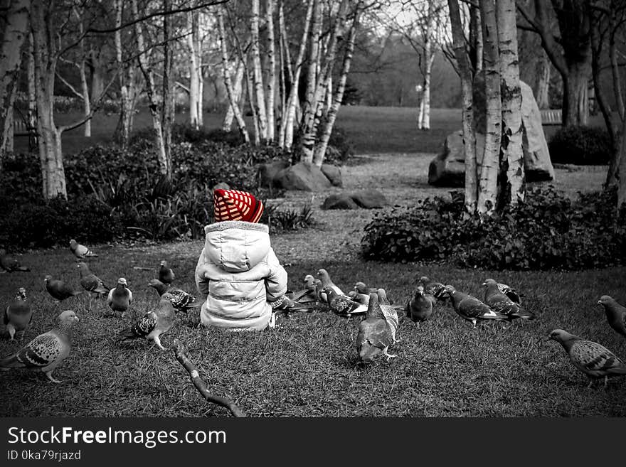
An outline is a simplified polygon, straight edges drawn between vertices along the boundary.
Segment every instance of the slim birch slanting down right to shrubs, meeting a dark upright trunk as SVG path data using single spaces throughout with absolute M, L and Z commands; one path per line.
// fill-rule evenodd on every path
M 131 0 L 132 17 L 134 21 L 139 19 L 139 11 L 137 9 L 137 0 Z M 135 36 L 137 36 L 137 48 L 139 53 L 139 68 L 142 70 L 144 79 L 146 80 L 146 93 L 149 100 L 150 115 L 152 116 L 152 127 L 154 128 L 154 144 L 157 151 L 157 161 L 159 161 L 159 171 L 161 175 L 169 178 L 171 176 L 171 166 L 165 150 L 163 139 L 163 129 L 161 128 L 161 114 L 159 112 L 159 104 L 155 95 L 154 76 L 152 75 L 152 67 L 146 58 L 146 46 L 144 43 L 144 32 L 141 22 L 134 23 Z

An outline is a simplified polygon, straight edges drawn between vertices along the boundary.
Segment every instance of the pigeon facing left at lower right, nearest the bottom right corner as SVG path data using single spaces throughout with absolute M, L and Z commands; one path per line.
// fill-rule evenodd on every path
M 556 340 L 563 345 L 574 366 L 589 378 L 587 387 L 591 387 L 593 380 L 601 377 L 604 377 L 604 387 L 606 387 L 608 377 L 626 375 L 626 363 L 603 345 L 591 340 L 583 340 L 563 329 L 553 330 L 548 340 Z

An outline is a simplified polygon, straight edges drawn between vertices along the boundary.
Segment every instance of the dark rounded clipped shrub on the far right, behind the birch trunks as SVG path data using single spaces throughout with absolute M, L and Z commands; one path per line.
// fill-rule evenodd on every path
M 608 131 L 583 126 L 556 131 L 548 149 L 552 162 L 576 165 L 606 164 L 613 152 Z

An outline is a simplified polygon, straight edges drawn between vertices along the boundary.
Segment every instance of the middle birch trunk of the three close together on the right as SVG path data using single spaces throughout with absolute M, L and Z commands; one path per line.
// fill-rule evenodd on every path
M 498 29 L 494 0 L 479 0 L 479 6 L 484 46 L 483 70 L 487 118 L 477 209 L 480 214 L 491 215 L 496 208 L 502 136 Z

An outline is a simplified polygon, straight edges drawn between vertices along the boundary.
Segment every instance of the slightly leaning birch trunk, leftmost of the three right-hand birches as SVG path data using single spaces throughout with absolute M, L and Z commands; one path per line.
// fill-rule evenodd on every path
M 478 181 L 476 168 L 476 134 L 474 134 L 474 111 L 472 70 L 470 59 L 465 53 L 465 34 L 461 23 L 461 14 L 458 0 L 447 0 L 450 9 L 450 25 L 452 41 L 461 77 L 461 92 L 463 97 L 462 122 L 463 146 L 465 148 L 465 210 L 474 214 L 478 203 Z

